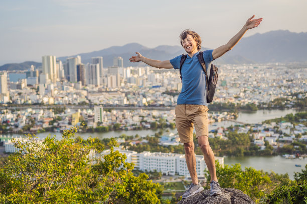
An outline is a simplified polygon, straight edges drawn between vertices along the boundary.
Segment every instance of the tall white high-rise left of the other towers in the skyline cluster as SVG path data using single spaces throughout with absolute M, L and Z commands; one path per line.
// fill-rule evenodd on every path
M 56 69 L 56 57 L 55 56 L 42 56 L 42 70 L 43 74 L 48 74 L 48 79 L 52 83 L 57 82 L 57 69 Z

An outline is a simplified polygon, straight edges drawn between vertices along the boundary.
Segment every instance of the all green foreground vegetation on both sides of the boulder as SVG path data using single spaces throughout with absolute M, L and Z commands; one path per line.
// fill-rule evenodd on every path
M 0 162 L 0 203 L 176 203 L 162 199 L 164 190 L 182 189 L 179 183 L 164 187 L 152 182 L 161 174 L 133 173 L 132 163 L 115 151 L 115 139 L 84 140 L 74 138 L 77 129 L 63 132 L 62 139 L 48 136 L 38 142 L 14 141 L 19 152 Z M 154 137 L 155 138 L 155 137 Z M 246 139 L 248 141 L 248 139 Z M 243 142 L 244 143 L 244 142 Z M 102 159 L 93 153 L 108 150 Z M 307 202 L 307 165 L 295 173 L 265 173 L 253 168 L 241 170 L 239 164 L 222 168 L 217 163 L 217 176 L 222 187 L 233 187 L 248 194 L 257 203 Z M 207 171 L 205 176 L 209 178 Z M 208 188 L 208 186 L 206 186 Z

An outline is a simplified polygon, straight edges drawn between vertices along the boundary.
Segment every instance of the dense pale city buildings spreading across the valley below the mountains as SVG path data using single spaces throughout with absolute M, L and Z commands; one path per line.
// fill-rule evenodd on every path
M 55 56 L 42 56 L 41 67 L 0 72 L 2 134 L 61 132 L 73 126 L 78 126 L 79 131 L 150 129 L 162 122 L 175 128 L 174 108 L 182 87 L 179 71 L 124 67 L 121 57 L 114 57 L 113 62 L 113 66 L 103 67 L 103 57 L 93 57 L 91 63 L 83 64 L 80 56 L 65 62 Z M 24 77 L 13 81 L 11 77 L 16 75 Z M 307 73 L 299 66 L 220 65 L 212 105 L 261 104 L 266 108 L 273 107 L 271 102 L 278 98 L 287 98 L 285 105 L 291 108 L 294 100 L 306 97 L 306 83 Z M 235 118 L 236 113 L 231 111 L 209 112 L 209 122 Z M 275 126 L 279 133 L 274 132 Z M 307 141 L 307 127 L 303 124 L 249 124 L 239 127 L 238 132 L 247 133 L 251 128 L 257 130 L 253 142 L 261 149 L 265 148 L 265 141 L 277 148 L 293 142 L 297 134 L 303 135 L 299 140 Z M 218 127 L 210 137 L 227 139 L 225 131 L 226 128 Z M 178 145 L 178 139 L 177 134 L 168 133 L 160 142 L 166 146 Z M 15 151 L 10 141 L 6 144 L 7 151 Z M 145 152 L 141 156 L 149 154 Z M 169 157 L 167 154 L 155 156 Z M 178 158 L 181 159 L 180 155 Z M 174 170 L 167 172 L 175 173 Z

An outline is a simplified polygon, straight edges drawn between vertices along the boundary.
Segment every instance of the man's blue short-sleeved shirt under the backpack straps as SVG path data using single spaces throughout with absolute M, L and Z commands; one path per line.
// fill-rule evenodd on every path
M 213 50 L 203 52 L 204 61 L 207 67 L 208 77 L 210 75 Z M 202 65 L 198 61 L 199 52 L 192 57 L 187 55 L 187 59 L 181 67 L 182 88 L 177 99 L 177 104 L 190 105 L 208 105 L 206 98 L 206 74 L 203 71 Z M 170 60 L 174 69 L 179 69 L 181 55 Z M 209 71 L 209 72 L 208 72 Z

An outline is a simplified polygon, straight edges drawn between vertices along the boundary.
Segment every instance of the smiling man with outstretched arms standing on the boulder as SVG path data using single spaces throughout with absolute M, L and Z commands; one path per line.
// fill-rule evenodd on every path
M 243 28 L 232 37 L 229 42 L 214 50 L 203 52 L 203 58 L 207 67 L 211 62 L 227 51 L 231 50 L 242 38 L 248 29 L 258 27 L 262 18 L 253 19 L 255 15 L 249 18 Z M 201 49 L 201 39 L 199 35 L 191 30 L 184 30 L 180 34 L 180 43 L 188 53 L 185 62 L 182 65 L 182 90 L 178 96 L 177 106 L 175 108 L 175 123 L 180 137 L 180 142 L 184 144 L 187 167 L 192 179 L 192 183 L 182 198 L 187 198 L 195 193 L 204 190 L 199 183 L 196 175 L 196 160 L 194 154 L 193 128 L 198 144 L 204 154 L 204 159 L 211 176 L 210 195 L 221 194 L 218 179 L 216 177 L 215 157 L 208 142 L 208 107 L 206 101 L 206 76 L 201 64 L 198 61 L 199 50 Z M 142 61 L 156 68 L 179 69 L 181 55 L 171 60 L 159 61 L 143 57 L 136 52 L 137 56 L 132 56 L 131 62 Z M 209 74 L 209 73 L 208 73 Z

